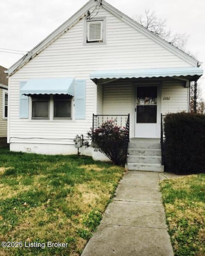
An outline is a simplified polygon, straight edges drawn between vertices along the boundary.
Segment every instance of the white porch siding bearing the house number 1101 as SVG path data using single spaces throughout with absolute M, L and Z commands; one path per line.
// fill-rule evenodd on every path
M 165 100 L 163 100 L 165 98 Z M 169 99 L 169 100 L 168 100 Z M 163 82 L 161 93 L 161 113 L 189 111 L 189 88 L 180 82 Z

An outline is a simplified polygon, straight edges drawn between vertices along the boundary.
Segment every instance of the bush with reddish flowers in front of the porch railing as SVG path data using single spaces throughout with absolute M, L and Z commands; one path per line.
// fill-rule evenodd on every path
M 116 125 L 116 120 L 108 120 L 97 129 L 87 133 L 95 143 L 95 151 L 105 154 L 114 164 L 124 166 L 127 158 L 128 131 Z

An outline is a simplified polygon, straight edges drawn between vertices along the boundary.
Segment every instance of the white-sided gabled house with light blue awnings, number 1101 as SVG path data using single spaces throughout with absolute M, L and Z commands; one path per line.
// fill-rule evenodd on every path
M 104 0 L 90 0 L 7 70 L 10 150 L 73 154 L 73 138 L 85 138 L 93 122 L 118 118 L 124 126 L 128 114 L 130 138 L 158 139 L 161 114 L 189 111 L 200 65 Z

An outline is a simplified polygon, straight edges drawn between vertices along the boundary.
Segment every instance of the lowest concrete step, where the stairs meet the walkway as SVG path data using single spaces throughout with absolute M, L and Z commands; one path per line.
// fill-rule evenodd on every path
M 127 163 L 126 168 L 130 171 L 156 171 L 163 172 L 163 166 L 155 163 Z

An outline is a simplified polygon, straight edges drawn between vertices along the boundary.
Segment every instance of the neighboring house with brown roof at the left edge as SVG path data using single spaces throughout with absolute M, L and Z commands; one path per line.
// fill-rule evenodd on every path
M 0 146 L 7 145 L 8 78 L 5 70 L 0 66 Z

